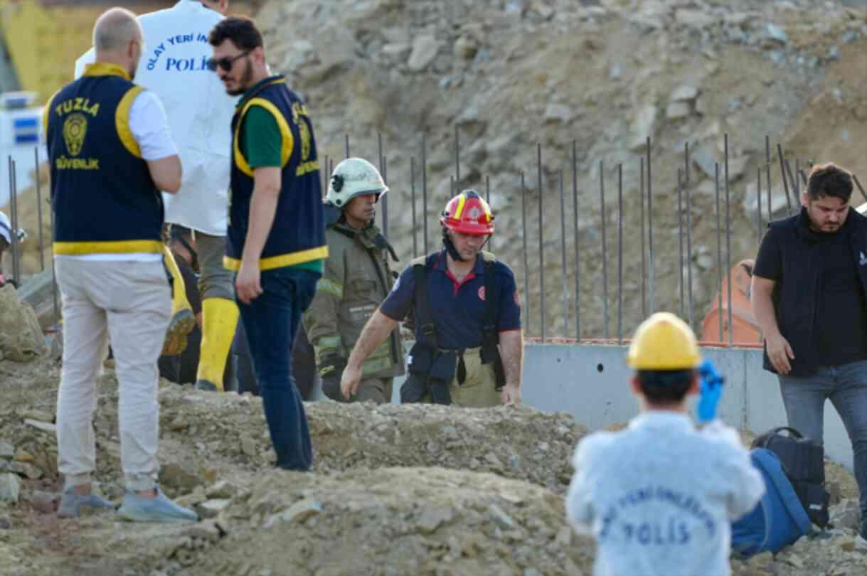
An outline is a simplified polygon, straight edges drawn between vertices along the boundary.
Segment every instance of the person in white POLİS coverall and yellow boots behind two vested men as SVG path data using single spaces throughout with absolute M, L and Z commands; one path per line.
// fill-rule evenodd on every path
M 231 273 L 223 267 L 230 143 L 225 127 L 235 99 L 207 70 L 207 36 L 228 8 L 229 0 L 180 0 L 173 8 L 138 18 L 146 46 L 136 81 L 163 101 L 184 165 L 182 193 L 164 194 L 163 200 L 166 222 L 191 229 L 199 253 L 202 338 L 196 387 L 205 390 L 224 389 L 226 359 L 238 324 Z M 82 56 L 76 72 L 92 60 L 92 51 Z M 195 323 L 179 268 L 170 252 L 165 256 L 175 289 L 164 352 L 178 353 Z

